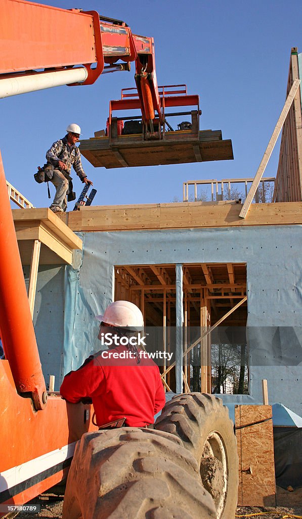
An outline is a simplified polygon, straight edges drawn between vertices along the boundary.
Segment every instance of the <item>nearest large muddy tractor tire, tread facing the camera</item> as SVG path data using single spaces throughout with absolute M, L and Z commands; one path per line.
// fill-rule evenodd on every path
M 196 460 L 165 432 L 125 427 L 83 434 L 63 519 L 216 519 Z

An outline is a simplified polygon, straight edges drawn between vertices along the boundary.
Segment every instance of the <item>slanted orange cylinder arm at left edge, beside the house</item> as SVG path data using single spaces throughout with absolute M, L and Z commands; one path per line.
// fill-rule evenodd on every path
M 0 153 L 0 336 L 16 389 L 31 393 L 34 407 L 47 401 L 45 380 L 28 304 L 18 243 Z

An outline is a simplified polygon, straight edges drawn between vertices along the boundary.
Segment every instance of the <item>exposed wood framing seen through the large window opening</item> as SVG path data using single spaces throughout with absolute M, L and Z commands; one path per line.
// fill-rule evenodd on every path
M 196 380 L 202 392 L 211 393 L 212 365 L 210 331 L 216 326 L 245 326 L 247 322 L 246 264 L 182 264 L 183 273 L 183 391 Z M 114 299 L 139 306 L 145 324 L 163 327 L 164 351 L 171 350 L 170 327 L 176 323 L 176 264 L 119 265 L 115 267 Z M 213 311 L 212 311 L 212 308 Z M 235 313 L 236 312 L 236 313 Z M 200 327 L 197 357 L 191 359 L 192 337 Z M 206 333 L 204 333 L 206 331 Z M 195 340 L 194 336 L 194 339 Z M 172 345 L 173 346 L 173 345 Z M 198 360 L 199 358 L 199 360 Z M 174 364 L 175 365 L 175 364 Z M 175 373 L 166 361 L 163 379 L 175 390 Z M 192 373 L 191 370 L 193 369 Z M 192 380 L 191 380 L 191 377 Z

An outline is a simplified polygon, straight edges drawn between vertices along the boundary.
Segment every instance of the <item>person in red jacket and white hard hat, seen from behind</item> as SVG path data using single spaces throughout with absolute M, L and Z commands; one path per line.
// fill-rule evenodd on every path
M 112 347 L 68 373 L 62 397 L 73 403 L 91 398 L 99 427 L 125 418 L 124 426 L 152 428 L 154 415 L 165 405 L 165 392 L 159 367 L 139 346 L 145 339 L 141 311 L 133 303 L 116 301 L 96 319 L 98 339 Z

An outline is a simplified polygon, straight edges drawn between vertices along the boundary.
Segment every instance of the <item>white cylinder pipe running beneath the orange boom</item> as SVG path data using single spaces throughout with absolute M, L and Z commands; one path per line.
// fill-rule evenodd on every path
M 88 72 L 84 67 L 56 72 L 39 72 L 33 75 L 11 76 L 0 79 L 0 98 L 44 90 L 45 88 L 60 87 L 70 83 L 82 83 L 87 76 Z

